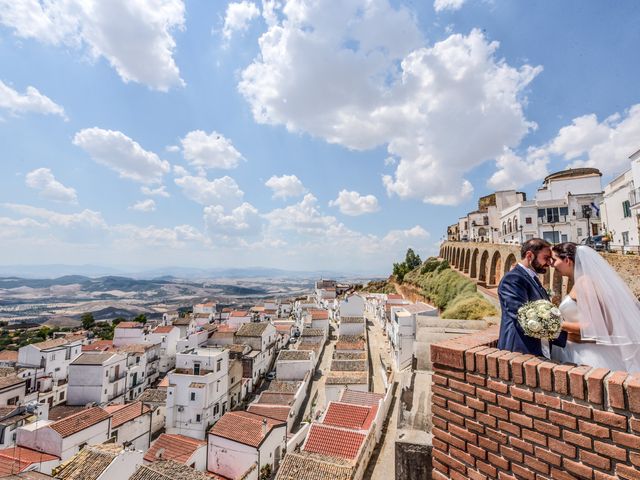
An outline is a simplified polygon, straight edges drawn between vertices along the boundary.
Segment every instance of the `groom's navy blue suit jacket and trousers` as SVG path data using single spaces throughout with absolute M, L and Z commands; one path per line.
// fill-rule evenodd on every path
M 540 340 L 525 335 L 518 323 L 518 309 L 523 304 L 534 300 L 549 300 L 546 290 L 540 281 L 536 280 L 537 278 L 534 279 L 520 265 L 516 265 L 502 278 L 498 287 L 498 297 L 502 308 L 500 338 L 498 339 L 499 349 L 542 355 Z M 564 347 L 567 343 L 566 332 L 562 332 L 560 337 L 551 343 Z

